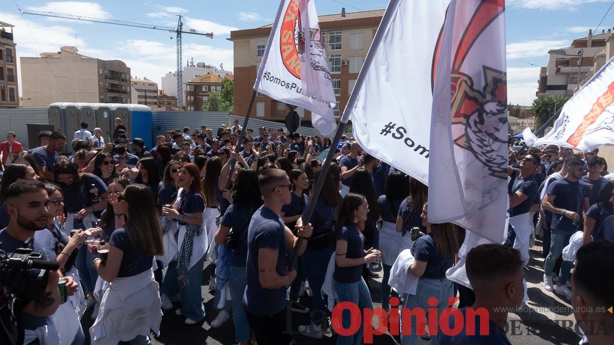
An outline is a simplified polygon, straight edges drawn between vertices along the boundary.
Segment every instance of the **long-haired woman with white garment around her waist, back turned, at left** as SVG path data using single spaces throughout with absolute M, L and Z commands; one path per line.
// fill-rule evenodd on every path
M 111 282 L 90 328 L 92 344 L 115 345 L 119 341 L 150 344 L 149 333 L 158 334 L 162 319 L 158 283 L 153 279 L 153 257 L 163 254 L 162 230 L 153 196 L 144 185 L 129 185 L 110 200 L 125 225 L 113 231 L 107 257 L 95 258 L 100 277 Z

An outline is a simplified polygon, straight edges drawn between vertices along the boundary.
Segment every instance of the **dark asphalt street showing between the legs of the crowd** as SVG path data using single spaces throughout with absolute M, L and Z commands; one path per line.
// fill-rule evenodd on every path
M 530 250 L 531 260 L 525 269 L 529 302 L 521 312 L 509 314 L 507 330 L 508 338 L 514 345 L 546 345 L 546 344 L 578 344 L 580 337 L 575 333 L 573 327 L 573 314 L 570 301 L 560 295 L 547 292 L 543 289 L 543 258 L 541 255 L 541 242 L 537 241 Z M 211 321 L 215 319 L 217 311 L 214 308 L 214 296 L 209 292 L 209 266 L 206 264 L 203 269 L 203 303 L 206 309 L 206 320 L 202 324 L 185 325 L 184 318 L 176 316 L 174 310 L 164 311 L 160 327 L 160 336 L 152 336 L 152 344 L 156 345 L 175 345 L 175 344 L 210 344 L 210 345 L 233 345 L 235 344 L 235 327 L 232 319 L 222 324 L 219 328 L 212 328 Z M 371 295 L 373 305 L 381 306 L 379 297 L 378 279 L 371 279 Z M 306 306 L 310 305 L 310 298 L 305 295 L 302 300 Z M 175 303 L 179 308 L 179 303 Z M 86 333 L 91 326 L 90 313 L 88 311 L 82 325 Z M 298 333 L 298 326 L 309 323 L 309 316 L 306 314 L 293 313 L 289 327 L 296 333 L 294 339 L 297 344 L 335 344 L 336 336 L 327 330 L 322 339 L 313 339 Z M 89 338 L 87 339 L 89 341 Z M 389 333 L 375 336 L 373 344 L 392 345 L 400 344 L 398 336 L 391 336 Z M 86 342 L 88 344 L 88 342 Z M 430 344 L 430 341 L 419 339 L 419 344 Z

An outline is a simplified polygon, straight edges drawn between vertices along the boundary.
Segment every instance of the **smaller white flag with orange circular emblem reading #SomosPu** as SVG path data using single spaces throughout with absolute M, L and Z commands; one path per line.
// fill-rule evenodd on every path
M 335 92 L 314 0 L 281 0 L 254 90 L 311 110 L 324 135 L 335 130 Z

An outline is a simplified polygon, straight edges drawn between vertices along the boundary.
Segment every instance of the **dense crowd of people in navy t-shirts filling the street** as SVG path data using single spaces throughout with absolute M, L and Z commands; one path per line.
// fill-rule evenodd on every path
M 523 266 L 539 238 L 546 290 L 574 306 L 614 304 L 614 174 L 597 152 L 581 157 L 554 145 L 510 151 L 508 239 L 470 250 L 469 289 L 446 277 L 465 230 L 429 223 L 428 188 L 419 180 L 345 136 L 332 147 L 328 138 L 273 128 L 257 135 L 246 128 L 238 142 L 241 131 L 238 121 L 216 133 L 206 126 L 169 130 L 149 149 L 128 138 L 118 118 L 112 142 L 82 123 L 72 150 L 54 131 L 42 132 L 41 145 L 28 151 L 9 132 L 0 144 L 2 250 L 32 238 L 34 250 L 60 263 L 41 299 L 23 308 L 25 344 L 84 344 L 80 319 L 88 309 L 91 343 L 149 344 L 162 311 L 177 305 L 185 325 L 220 327 L 232 319 L 242 345 L 290 344 L 287 317 L 312 312 L 298 331 L 320 339 L 327 328 L 355 323 L 348 310 L 330 317 L 335 304 L 353 303 L 362 316 L 373 309 L 367 283 L 379 270 L 377 289 L 391 320 L 395 308 L 441 314 L 456 296 L 464 315 L 465 307 L 490 313 L 489 322 L 465 325 L 459 335 L 433 331 L 437 324 L 413 314 L 403 318 L 411 320 L 401 326 L 403 344 L 419 336 L 433 344 L 510 344 L 508 312 L 499 307 L 512 311 L 525 300 Z M 327 149 L 335 158 L 323 174 L 316 157 Z M 313 215 L 303 219 L 309 203 Z M 289 269 L 293 254 L 298 260 Z M 215 317 L 202 300 L 206 261 Z M 67 301 L 58 295 L 60 278 Z M 612 314 L 590 310 L 578 309 L 577 320 L 602 321 L 607 335 L 581 329 L 591 344 L 611 344 Z M 418 334 L 420 322 L 430 335 Z M 480 335 L 486 325 L 489 334 Z M 336 335 L 337 344 L 362 341 L 362 319 L 354 334 Z

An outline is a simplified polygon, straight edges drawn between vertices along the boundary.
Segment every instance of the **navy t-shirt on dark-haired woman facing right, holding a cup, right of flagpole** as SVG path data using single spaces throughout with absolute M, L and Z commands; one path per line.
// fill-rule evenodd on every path
M 336 240 L 348 242 L 346 258 L 365 257 L 365 238 L 362 236 L 356 225 L 352 224 L 348 225 L 348 227 L 341 228 L 341 231 L 339 231 L 337 234 Z M 333 273 L 333 278 L 336 282 L 340 282 L 341 284 L 349 284 L 360 281 L 360 279 L 362 279 L 362 266 L 363 265 L 339 267 L 335 262 L 335 273 Z

